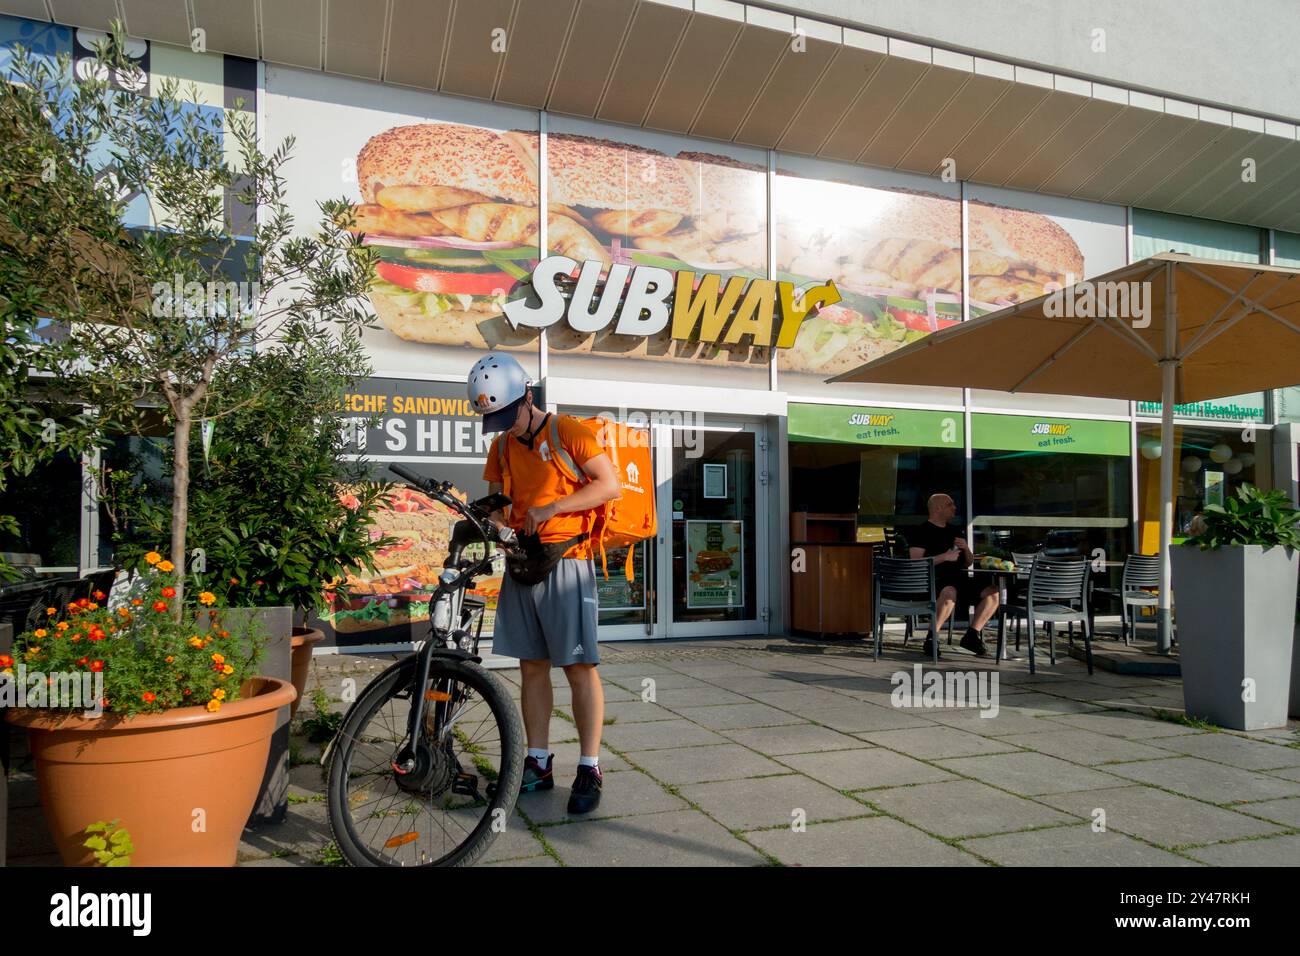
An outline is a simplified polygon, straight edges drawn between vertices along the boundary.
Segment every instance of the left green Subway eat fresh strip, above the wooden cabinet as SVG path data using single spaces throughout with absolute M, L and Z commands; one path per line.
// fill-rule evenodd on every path
M 966 446 L 959 411 L 793 403 L 789 407 L 789 431 L 790 441 L 957 449 Z

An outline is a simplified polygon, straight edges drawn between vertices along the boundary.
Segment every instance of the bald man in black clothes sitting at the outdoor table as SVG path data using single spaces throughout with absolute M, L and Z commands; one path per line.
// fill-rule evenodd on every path
M 966 568 L 975 561 L 966 538 L 959 536 L 957 528 L 948 527 L 948 523 L 957 516 L 957 505 L 946 494 L 932 494 L 926 502 L 930 509 L 930 520 L 919 528 L 909 529 L 907 546 L 909 555 L 916 558 L 935 559 L 935 587 L 939 588 L 939 615 L 935 618 L 935 631 L 937 635 L 948 620 L 948 615 L 958 602 L 963 607 L 974 607 L 970 627 L 962 635 L 962 646 L 976 657 L 988 654 L 980 631 L 997 610 L 998 589 L 996 587 L 983 587 L 980 581 L 966 574 Z M 935 653 L 932 639 L 927 637 L 923 653 L 928 657 Z

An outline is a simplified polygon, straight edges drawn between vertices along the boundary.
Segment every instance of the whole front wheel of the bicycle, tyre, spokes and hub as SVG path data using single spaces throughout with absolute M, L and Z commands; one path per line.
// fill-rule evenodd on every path
M 376 678 L 330 754 L 330 829 L 354 866 L 468 866 L 510 822 L 519 799 L 519 710 L 500 679 L 469 661 L 433 659 L 417 767 L 394 770 L 415 679 L 416 657 Z M 438 724 L 446 728 L 441 737 Z

